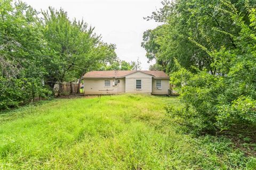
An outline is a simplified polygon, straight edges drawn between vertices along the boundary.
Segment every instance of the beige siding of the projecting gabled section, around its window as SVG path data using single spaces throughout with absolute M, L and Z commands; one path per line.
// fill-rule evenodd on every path
M 136 89 L 136 80 L 141 80 L 141 90 Z M 151 94 L 152 76 L 135 72 L 125 77 L 125 93 L 127 94 Z

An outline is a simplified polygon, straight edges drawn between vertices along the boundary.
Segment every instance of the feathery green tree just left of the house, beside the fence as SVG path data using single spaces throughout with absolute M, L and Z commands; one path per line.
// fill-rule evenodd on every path
M 62 82 L 80 82 L 87 71 L 115 59 L 115 45 L 103 43 L 101 37 L 93 33 L 94 28 L 88 28 L 83 20 L 71 22 L 65 11 L 52 7 L 43 15 L 43 33 L 51 49 L 48 52 L 51 57 L 46 62 L 47 82 L 51 88 L 55 82 L 60 82 L 59 95 Z

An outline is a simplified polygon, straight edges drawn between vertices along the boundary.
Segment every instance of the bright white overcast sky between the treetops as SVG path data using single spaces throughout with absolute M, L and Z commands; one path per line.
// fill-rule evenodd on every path
M 143 20 L 161 7 L 161 0 L 23 0 L 37 11 L 49 6 L 68 12 L 70 19 L 84 19 L 95 27 L 106 43 L 116 44 L 121 60 L 136 61 L 139 57 L 142 70 L 148 70 L 146 51 L 141 47 L 143 32 L 159 25 Z

